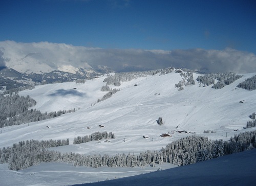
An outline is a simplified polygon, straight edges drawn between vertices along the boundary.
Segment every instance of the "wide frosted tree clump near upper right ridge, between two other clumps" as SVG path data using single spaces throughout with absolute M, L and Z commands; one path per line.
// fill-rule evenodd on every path
M 236 75 L 236 73 L 210 73 L 198 76 L 197 81 L 199 81 L 200 84 L 203 83 L 204 86 L 214 84 L 212 85 L 212 88 L 221 89 L 225 85 L 229 85 L 241 77 L 241 75 Z M 215 79 L 218 80 L 217 83 L 215 83 Z

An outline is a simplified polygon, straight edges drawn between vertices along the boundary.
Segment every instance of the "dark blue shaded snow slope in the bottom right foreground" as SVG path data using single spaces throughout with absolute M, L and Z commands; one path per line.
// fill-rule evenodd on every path
M 256 150 L 174 169 L 86 185 L 255 185 Z

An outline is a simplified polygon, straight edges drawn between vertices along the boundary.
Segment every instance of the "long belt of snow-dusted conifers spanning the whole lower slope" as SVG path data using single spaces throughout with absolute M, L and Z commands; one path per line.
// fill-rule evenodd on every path
M 61 142 L 61 143 L 60 143 Z M 54 144 L 54 145 L 50 145 Z M 211 158 L 227 154 L 242 152 L 256 147 L 256 130 L 244 132 L 229 141 L 222 139 L 211 141 L 207 137 L 187 136 L 168 144 L 160 151 L 141 152 L 139 154 L 117 154 L 115 156 L 104 155 L 82 155 L 72 152 L 63 153 L 50 151 L 48 147 L 68 145 L 68 141 L 38 142 L 30 140 L 14 144 L 13 147 L 0 149 L 0 163 L 8 163 L 11 170 L 26 169 L 37 165 L 39 162 L 72 162 L 74 166 L 87 167 L 135 167 L 148 164 L 161 164 L 169 162 L 177 166 L 194 164 Z

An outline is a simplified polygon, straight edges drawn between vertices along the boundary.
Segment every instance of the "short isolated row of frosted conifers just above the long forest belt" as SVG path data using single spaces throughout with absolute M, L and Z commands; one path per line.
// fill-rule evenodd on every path
M 77 136 L 74 138 L 73 144 L 81 144 L 81 143 L 86 143 L 86 142 L 91 142 L 91 141 L 97 141 L 103 138 L 115 138 L 115 135 L 113 132 L 94 132 L 93 134 L 90 135 L 84 135 L 84 136 Z

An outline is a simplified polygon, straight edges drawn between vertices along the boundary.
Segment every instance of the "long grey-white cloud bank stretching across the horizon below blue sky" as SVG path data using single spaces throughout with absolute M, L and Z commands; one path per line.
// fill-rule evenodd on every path
M 53 69 L 70 64 L 79 68 L 85 67 L 89 63 L 109 66 L 119 72 L 125 71 L 125 69 L 129 71 L 170 66 L 205 72 L 256 72 L 255 54 L 228 48 L 223 51 L 204 49 L 122 50 L 75 47 L 63 43 L 17 43 L 14 41 L 2 41 L 0 47 L 5 49 L 4 57 L 9 59 L 6 62 L 7 66 L 15 66 L 15 61 L 30 53 L 36 53 L 41 54 L 36 55 L 38 57 L 37 63 L 46 63 Z

